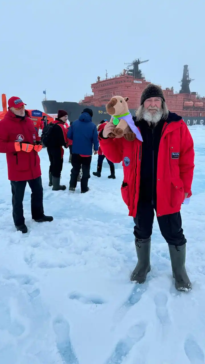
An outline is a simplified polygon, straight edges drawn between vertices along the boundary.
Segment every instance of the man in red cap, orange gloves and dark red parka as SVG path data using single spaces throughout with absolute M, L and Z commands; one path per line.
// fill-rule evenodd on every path
M 8 179 L 11 181 L 13 221 L 18 231 L 27 233 L 23 215 L 23 198 L 28 182 L 31 194 L 31 214 L 36 222 L 52 221 L 43 211 L 43 187 L 40 159 L 40 138 L 26 104 L 16 96 L 8 100 L 8 111 L 0 121 L 0 153 L 6 153 Z

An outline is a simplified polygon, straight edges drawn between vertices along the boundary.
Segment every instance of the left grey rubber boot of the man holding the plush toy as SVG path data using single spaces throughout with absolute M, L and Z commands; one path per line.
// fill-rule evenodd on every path
M 151 237 L 148 239 L 136 239 L 135 248 L 138 256 L 138 264 L 131 274 L 130 280 L 136 283 L 144 283 L 146 281 L 147 273 L 150 272 L 150 250 L 151 250 Z

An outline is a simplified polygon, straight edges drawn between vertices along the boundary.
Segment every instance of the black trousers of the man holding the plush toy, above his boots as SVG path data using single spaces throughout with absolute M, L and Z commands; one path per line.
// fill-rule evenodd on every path
M 148 239 L 152 234 L 154 222 L 154 210 L 156 205 L 151 203 L 138 203 L 138 210 L 134 218 L 134 235 L 137 239 Z M 182 219 L 180 212 L 157 217 L 160 232 L 166 242 L 171 245 L 183 245 L 186 243 L 182 229 Z

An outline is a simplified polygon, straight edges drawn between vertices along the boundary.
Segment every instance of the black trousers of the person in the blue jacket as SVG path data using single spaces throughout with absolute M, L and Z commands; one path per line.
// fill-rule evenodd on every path
M 70 187 L 76 188 L 78 174 L 81 170 L 82 165 L 82 177 L 81 177 L 81 192 L 87 192 L 88 190 L 88 179 L 90 178 L 90 163 L 92 156 L 81 157 L 80 154 L 73 154 L 71 157 L 71 174 L 70 174 Z

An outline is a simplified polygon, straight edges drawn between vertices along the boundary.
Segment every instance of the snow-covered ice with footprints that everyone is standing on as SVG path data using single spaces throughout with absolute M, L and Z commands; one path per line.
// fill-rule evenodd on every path
M 205 363 L 205 127 L 191 127 L 195 143 L 193 196 L 182 206 L 186 268 L 193 290 L 174 288 L 167 243 L 154 223 L 151 272 L 129 281 L 136 264 L 133 220 L 116 180 L 91 173 L 89 193 L 52 191 L 47 152 L 40 152 L 44 207 L 54 221 L 31 221 L 28 234 L 12 221 L 11 186 L 0 155 L 0 363 Z M 69 185 L 69 151 L 62 183 Z M 91 172 L 96 170 L 93 157 Z

